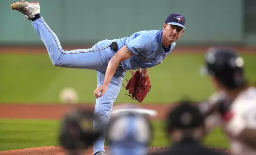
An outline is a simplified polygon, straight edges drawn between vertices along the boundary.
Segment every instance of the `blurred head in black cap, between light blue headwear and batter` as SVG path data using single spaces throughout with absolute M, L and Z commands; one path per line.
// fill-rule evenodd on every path
M 194 102 L 182 101 L 168 113 L 167 133 L 172 141 L 184 138 L 201 140 L 204 136 L 204 116 Z

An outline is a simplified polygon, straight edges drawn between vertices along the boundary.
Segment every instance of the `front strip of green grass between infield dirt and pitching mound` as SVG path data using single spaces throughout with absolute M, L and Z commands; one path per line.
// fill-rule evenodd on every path
M 58 146 L 59 121 L 31 119 L 0 119 L 0 151 L 40 146 Z M 163 124 L 153 121 L 154 137 L 151 146 L 168 146 Z M 206 146 L 229 148 L 220 129 L 204 141 Z

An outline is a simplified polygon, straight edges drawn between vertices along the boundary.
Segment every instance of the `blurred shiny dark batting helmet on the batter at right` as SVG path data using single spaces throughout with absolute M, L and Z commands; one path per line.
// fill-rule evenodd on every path
M 206 72 L 227 89 L 246 85 L 244 60 L 237 51 L 229 47 L 210 47 L 205 55 Z

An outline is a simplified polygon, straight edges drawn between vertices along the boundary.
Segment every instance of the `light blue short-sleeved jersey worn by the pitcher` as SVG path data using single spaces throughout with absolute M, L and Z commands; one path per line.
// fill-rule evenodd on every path
M 124 45 L 134 54 L 133 57 L 124 60 L 122 67 L 125 70 L 150 68 L 161 64 L 162 60 L 174 49 L 175 42 L 171 44 L 168 52 L 165 52 L 162 43 L 163 30 L 146 30 L 132 34 L 129 37 L 117 39 L 118 48 Z

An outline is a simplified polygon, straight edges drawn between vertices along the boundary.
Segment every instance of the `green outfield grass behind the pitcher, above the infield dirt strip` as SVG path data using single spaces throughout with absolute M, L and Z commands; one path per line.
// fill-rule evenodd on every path
M 249 81 L 256 80 L 256 55 L 242 56 L 246 76 Z M 200 76 L 203 58 L 200 54 L 173 53 L 162 64 L 149 68 L 152 87 L 144 102 L 176 102 L 183 95 L 206 99 L 214 89 L 208 77 Z M 95 102 L 97 81 L 93 70 L 55 67 L 48 55 L 0 55 L 0 66 L 0 102 L 59 102 L 64 87 L 75 88 L 80 102 Z M 125 77 L 129 79 L 130 72 Z M 122 88 L 116 102 L 136 102 L 126 93 Z

